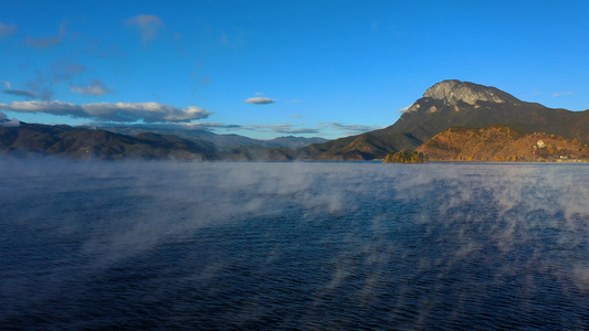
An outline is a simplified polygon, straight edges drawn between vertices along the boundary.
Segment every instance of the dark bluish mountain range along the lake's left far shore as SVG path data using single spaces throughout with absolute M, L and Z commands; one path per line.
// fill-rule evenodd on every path
M 0 151 L 71 159 L 290 161 L 296 154 L 295 149 L 288 148 L 290 146 L 306 146 L 316 141 L 326 140 L 302 137 L 256 140 L 238 135 L 197 131 L 170 135 L 169 130 L 147 131 L 132 127 L 116 127 L 116 130 L 111 130 L 66 125 L 0 124 Z

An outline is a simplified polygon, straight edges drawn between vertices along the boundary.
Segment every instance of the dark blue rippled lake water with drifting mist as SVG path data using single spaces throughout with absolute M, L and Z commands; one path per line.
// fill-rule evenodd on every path
M 589 164 L 0 160 L 0 325 L 589 329 Z

